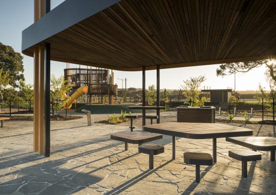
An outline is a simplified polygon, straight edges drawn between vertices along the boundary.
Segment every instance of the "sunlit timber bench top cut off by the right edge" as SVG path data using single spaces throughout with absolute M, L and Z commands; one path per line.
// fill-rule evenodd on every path
M 276 138 L 274 137 L 250 136 L 250 137 L 239 137 L 239 138 L 226 138 L 226 141 L 240 146 L 261 150 L 261 151 L 276 150 Z

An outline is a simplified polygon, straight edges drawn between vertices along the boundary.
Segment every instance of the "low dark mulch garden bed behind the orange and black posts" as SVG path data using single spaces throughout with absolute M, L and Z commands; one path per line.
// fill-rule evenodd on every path
M 0 115 L 1 117 L 9 117 L 9 115 Z M 69 121 L 74 119 L 83 118 L 82 116 L 74 116 L 74 115 L 58 115 L 58 116 L 51 116 L 51 121 Z M 33 116 L 24 116 L 24 115 L 11 115 L 9 120 L 16 120 L 16 121 L 32 121 Z

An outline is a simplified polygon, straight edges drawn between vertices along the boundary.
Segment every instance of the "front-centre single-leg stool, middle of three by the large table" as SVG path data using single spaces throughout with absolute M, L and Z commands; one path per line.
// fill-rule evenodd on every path
M 184 163 L 195 165 L 195 181 L 200 182 L 200 165 L 212 165 L 211 154 L 201 152 L 184 152 Z

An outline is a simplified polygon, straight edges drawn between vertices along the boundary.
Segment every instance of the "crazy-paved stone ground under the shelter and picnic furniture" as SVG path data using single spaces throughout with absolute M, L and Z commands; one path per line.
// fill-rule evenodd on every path
M 175 120 L 175 113 L 161 114 L 163 122 Z M 105 117 L 92 115 L 92 120 Z M 262 152 L 261 161 L 248 163 L 244 179 L 241 162 L 228 157 L 229 149 L 242 147 L 218 139 L 218 162 L 201 166 L 197 184 L 195 167 L 183 163 L 183 152 L 212 154 L 211 140 L 177 139 L 177 159 L 172 160 L 172 139 L 164 136 L 153 142 L 165 146 L 165 152 L 155 156 L 155 168 L 149 170 L 148 155 L 138 153 L 137 145 L 130 144 L 124 151 L 122 142 L 109 139 L 111 133 L 128 131 L 127 126 L 92 123 L 88 127 L 86 118 L 53 121 L 51 157 L 44 158 L 32 151 L 32 121 L 6 122 L 0 129 L 0 194 L 276 195 L 276 162 L 270 161 L 268 152 Z

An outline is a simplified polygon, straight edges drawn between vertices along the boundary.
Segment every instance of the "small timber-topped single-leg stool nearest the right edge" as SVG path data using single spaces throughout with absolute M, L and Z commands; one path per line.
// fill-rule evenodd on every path
M 244 178 L 247 178 L 247 162 L 262 159 L 261 153 L 250 149 L 230 150 L 229 156 L 236 160 L 242 161 L 242 177 Z

